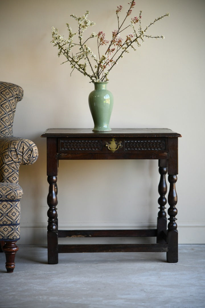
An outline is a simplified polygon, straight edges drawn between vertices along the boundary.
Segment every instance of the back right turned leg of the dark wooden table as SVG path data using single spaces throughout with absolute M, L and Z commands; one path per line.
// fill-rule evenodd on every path
M 158 199 L 159 212 L 157 217 L 157 240 L 158 244 L 166 243 L 166 234 L 167 234 L 167 217 L 165 212 L 165 205 L 167 199 L 165 197 L 167 193 L 167 183 L 166 183 L 166 174 L 167 174 L 167 160 L 159 160 L 159 173 L 160 173 L 160 183 L 158 186 L 158 192 L 160 197 Z

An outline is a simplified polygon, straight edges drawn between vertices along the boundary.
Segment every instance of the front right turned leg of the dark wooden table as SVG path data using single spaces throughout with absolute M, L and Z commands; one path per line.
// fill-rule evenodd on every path
M 167 252 L 167 262 L 176 263 L 178 262 L 178 231 L 175 217 L 177 215 L 177 209 L 175 205 L 177 204 L 177 194 L 175 189 L 175 183 L 177 181 L 176 175 L 169 175 L 168 181 L 170 183 L 169 193 L 168 193 L 168 204 L 170 208 L 168 209 L 168 231 L 167 231 L 167 241 L 168 241 L 168 252 Z

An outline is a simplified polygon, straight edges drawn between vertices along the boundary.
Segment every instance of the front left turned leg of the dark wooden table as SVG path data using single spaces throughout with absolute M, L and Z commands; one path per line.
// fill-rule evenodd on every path
M 57 234 L 57 176 L 48 176 L 49 193 L 47 203 L 48 215 L 48 264 L 58 263 L 58 234 Z

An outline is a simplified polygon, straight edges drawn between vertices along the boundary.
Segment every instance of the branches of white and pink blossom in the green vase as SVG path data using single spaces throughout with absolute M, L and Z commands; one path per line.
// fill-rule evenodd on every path
M 83 38 L 84 31 L 88 27 L 92 27 L 95 25 L 95 22 L 91 22 L 87 18 L 89 11 L 86 11 L 86 13 L 81 17 L 77 17 L 73 14 L 70 15 L 78 22 L 78 31 L 73 32 L 70 25 L 67 23 L 66 25 L 69 31 L 68 39 L 64 39 L 63 36 L 58 34 L 58 30 L 52 27 L 53 39 L 51 43 L 53 43 L 54 46 L 58 47 L 58 56 L 64 55 L 67 59 L 65 62 L 70 63 L 72 67 L 71 74 L 74 69 L 77 69 L 83 75 L 89 77 L 91 82 L 108 81 L 109 72 L 117 64 L 117 61 L 120 58 L 123 58 L 124 53 L 129 52 L 130 48 L 133 48 L 136 51 L 135 45 L 140 47 L 141 43 L 144 42 L 144 38 L 164 39 L 163 35 L 148 35 L 147 30 L 150 26 L 152 26 L 160 19 L 169 16 L 168 13 L 156 18 L 153 22 L 146 26 L 144 30 L 142 30 L 142 11 L 140 11 L 138 17 L 132 17 L 128 24 L 126 24 L 127 19 L 131 16 L 132 9 L 136 5 L 136 3 L 134 0 L 132 0 L 128 3 L 128 5 L 128 11 L 126 12 L 125 18 L 122 18 L 121 22 L 120 12 L 122 10 L 122 6 L 117 6 L 117 29 L 112 31 L 112 37 L 110 40 L 105 39 L 105 34 L 102 31 L 98 32 L 98 34 L 95 34 L 95 32 L 91 33 L 87 39 Z M 139 25 L 138 30 L 136 30 L 136 24 Z M 131 33 L 126 34 L 123 39 L 121 37 L 122 32 L 129 28 L 131 29 Z M 74 43 L 74 39 L 76 36 L 78 36 L 78 43 Z M 88 41 L 93 38 L 97 38 L 97 55 L 95 55 L 93 51 L 91 51 L 90 47 L 87 45 Z M 77 52 L 74 54 L 73 49 L 76 49 L 76 47 Z M 102 48 L 104 48 L 104 52 L 102 52 Z

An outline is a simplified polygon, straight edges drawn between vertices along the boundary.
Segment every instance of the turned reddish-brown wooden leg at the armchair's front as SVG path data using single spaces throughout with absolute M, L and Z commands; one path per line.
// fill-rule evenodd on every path
M 7 273 L 13 273 L 15 268 L 15 255 L 18 251 L 18 246 L 16 242 L 5 242 L 5 245 L 2 247 L 3 252 L 6 255 L 6 270 Z

